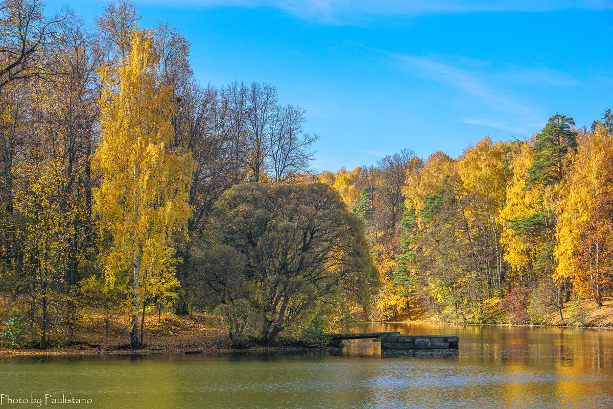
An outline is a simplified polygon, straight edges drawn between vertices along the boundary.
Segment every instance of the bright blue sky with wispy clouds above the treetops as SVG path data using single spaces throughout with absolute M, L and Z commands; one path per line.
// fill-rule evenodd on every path
M 68 4 L 91 21 L 106 1 Z M 613 108 L 613 1 L 149 0 L 192 43 L 197 78 L 268 82 L 307 109 L 318 170 L 402 148 L 452 157 L 485 135 L 523 139 L 560 112 Z

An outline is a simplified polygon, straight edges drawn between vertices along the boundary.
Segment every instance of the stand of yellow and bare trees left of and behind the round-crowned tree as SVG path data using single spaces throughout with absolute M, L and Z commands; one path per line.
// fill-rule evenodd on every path
M 129 0 L 93 27 L 44 6 L 0 1 L 0 291 L 30 345 L 69 342 L 101 302 L 107 318 L 131 313 L 135 346 L 147 307 L 210 309 L 189 258 L 215 239 L 223 193 L 313 182 L 318 137 L 271 84 L 201 86 L 185 37 L 168 23 L 137 31 Z M 356 200 L 354 174 L 338 176 Z

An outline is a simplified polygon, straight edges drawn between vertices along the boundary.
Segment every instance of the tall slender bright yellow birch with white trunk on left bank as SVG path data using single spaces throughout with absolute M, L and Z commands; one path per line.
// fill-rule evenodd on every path
M 177 285 L 171 239 L 192 213 L 188 196 L 196 166 L 191 152 L 169 148 L 173 105 L 159 60 L 150 32 L 137 31 L 129 56 L 102 70 L 102 141 L 93 158 L 101 176 L 94 211 L 112 235 L 107 281 L 113 285 L 118 274 L 132 272 L 132 347 L 142 345 L 137 314 L 145 292 Z

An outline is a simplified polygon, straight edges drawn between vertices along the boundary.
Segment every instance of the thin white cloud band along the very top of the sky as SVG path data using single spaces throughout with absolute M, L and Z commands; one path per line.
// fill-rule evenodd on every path
M 384 16 L 440 13 L 547 12 L 565 9 L 613 9 L 610 0 L 137 0 L 143 4 L 195 7 L 272 7 L 300 18 L 332 24 L 356 24 Z

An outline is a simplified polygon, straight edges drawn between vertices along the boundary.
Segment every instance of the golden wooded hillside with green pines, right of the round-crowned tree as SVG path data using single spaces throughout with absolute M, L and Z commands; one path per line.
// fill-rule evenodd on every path
M 610 110 L 592 129 L 555 114 L 530 140 L 485 137 L 457 159 L 405 149 L 320 173 L 364 220 L 376 317 L 585 325 L 612 290 L 612 131 Z

